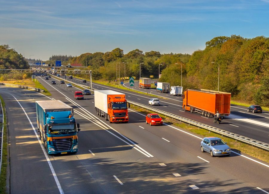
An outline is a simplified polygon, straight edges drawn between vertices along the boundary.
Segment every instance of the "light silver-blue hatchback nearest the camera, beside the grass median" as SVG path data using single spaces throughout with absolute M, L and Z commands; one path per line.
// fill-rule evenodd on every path
M 212 157 L 231 154 L 230 147 L 218 137 L 205 137 L 201 141 L 201 151 L 210 153 Z

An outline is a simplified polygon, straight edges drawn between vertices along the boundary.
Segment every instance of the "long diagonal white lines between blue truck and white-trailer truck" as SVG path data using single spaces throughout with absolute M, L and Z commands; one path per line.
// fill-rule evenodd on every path
M 45 82 L 45 83 L 47 83 L 47 82 Z M 47 83 L 47 84 L 48 84 L 48 83 Z M 48 84 L 48 85 L 50 85 L 50 84 Z M 50 86 L 51 86 L 51 85 L 50 85 Z M 51 86 L 51 87 L 53 87 L 53 86 Z M 54 87 L 53 87 L 53 88 L 54 88 Z M 125 142 L 126 144 L 128 144 L 128 145 L 130 145 L 131 147 L 135 148 L 135 149 L 136 149 L 137 151 L 139 151 L 140 153 L 146 155 L 147 157 L 154 157 L 153 155 L 151 155 L 150 153 L 148 153 L 146 150 L 144 150 L 143 148 L 141 148 L 140 146 L 138 146 L 137 144 L 135 144 L 132 140 L 130 140 L 130 139 L 127 138 L 126 136 L 124 136 L 124 135 L 122 135 L 121 133 L 119 133 L 117 130 L 115 130 L 114 128 L 112 128 L 112 127 L 109 126 L 108 124 L 106 124 L 106 123 L 105 123 L 104 121 L 102 121 L 101 119 L 97 118 L 97 116 L 93 115 L 93 114 L 90 113 L 88 110 L 86 110 L 85 108 L 83 108 L 82 106 L 80 106 L 79 104 L 77 104 L 76 102 L 72 101 L 70 98 L 68 98 L 68 96 L 66 96 L 65 94 L 63 94 L 62 92 L 60 92 L 59 90 L 57 90 L 56 88 L 54 88 L 54 89 L 55 89 L 56 91 L 58 91 L 59 93 L 61 93 L 63 96 L 65 96 L 65 98 L 66 98 L 68 101 L 70 101 L 72 104 L 76 105 L 76 106 L 77 106 L 80 110 L 82 110 L 84 113 L 88 114 L 88 116 L 91 116 L 91 117 L 95 120 L 95 122 L 93 122 L 93 121 L 91 121 L 90 119 L 86 118 L 87 120 L 93 122 L 93 123 L 96 124 L 97 126 L 102 125 L 102 126 L 105 127 L 105 125 L 106 125 L 107 127 L 105 127 L 105 128 L 114 130 L 118 135 L 122 136 L 122 137 L 125 138 L 127 141 L 131 142 L 131 144 L 128 143 L 127 141 L 123 140 L 123 139 L 120 138 L 119 136 L 116 136 L 114 133 L 111 133 L 111 132 L 108 131 L 107 129 L 105 129 L 105 128 L 101 127 L 101 126 L 100 126 L 100 127 L 103 128 L 104 130 L 106 130 L 108 133 L 111 133 L 113 136 L 117 137 L 118 139 L 122 140 L 122 141 Z M 44 95 L 44 96 L 45 96 L 45 95 Z M 74 112 L 76 112 L 76 110 L 74 110 Z M 78 112 L 78 111 L 77 111 L 77 112 Z M 81 116 L 85 118 L 85 115 L 84 115 L 84 116 L 81 115 Z M 94 117 L 95 117 L 95 118 L 94 118 Z M 98 125 L 97 123 L 99 123 L 100 125 Z M 101 123 L 102 123 L 102 124 L 101 124 Z

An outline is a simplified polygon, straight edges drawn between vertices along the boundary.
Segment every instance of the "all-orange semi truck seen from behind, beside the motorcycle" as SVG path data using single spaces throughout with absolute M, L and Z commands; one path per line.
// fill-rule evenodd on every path
M 231 93 L 213 90 L 185 90 L 182 96 L 184 110 L 210 117 L 218 111 L 220 116 L 230 114 Z

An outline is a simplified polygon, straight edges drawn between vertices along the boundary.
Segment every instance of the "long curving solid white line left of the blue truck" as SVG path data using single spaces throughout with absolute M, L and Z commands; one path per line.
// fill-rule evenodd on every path
M 12 94 L 10 94 L 10 95 L 13 96 Z M 15 98 L 15 96 L 13 96 L 13 97 Z M 15 98 L 15 100 L 19 103 L 19 101 L 17 100 L 17 98 Z M 53 168 L 53 166 L 52 166 L 52 164 L 51 164 L 50 158 L 48 157 L 48 155 L 47 155 L 47 153 L 46 153 L 46 151 L 45 151 L 45 148 L 43 147 L 43 145 L 42 145 L 42 143 L 41 143 L 41 140 L 39 139 L 39 135 L 36 133 L 36 129 L 35 129 L 35 127 L 33 126 L 33 123 L 31 122 L 30 118 L 28 117 L 27 113 L 25 112 L 24 108 L 22 107 L 21 103 L 19 103 L 19 105 L 21 106 L 23 112 L 25 113 L 25 115 L 26 115 L 28 121 L 30 122 L 30 125 L 32 126 L 32 129 L 33 129 L 33 131 L 34 131 L 34 133 L 35 133 L 35 135 L 36 135 L 36 138 L 37 138 L 37 140 L 39 141 L 39 144 L 40 144 L 40 146 L 41 146 L 41 148 L 42 148 L 42 150 L 43 150 L 43 153 L 44 153 L 44 155 L 45 155 L 45 157 L 46 157 L 46 160 L 47 160 L 47 162 L 48 162 L 48 164 L 49 164 L 49 167 L 50 167 L 50 169 L 51 169 L 51 173 L 52 173 L 52 175 L 53 175 L 53 177 L 54 177 L 54 180 L 55 180 L 55 182 L 56 182 L 56 185 L 57 185 L 57 187 L 58 187 L 58 189 L 59 189 L 59 192 L 60 192 L 61 194 L 64 194 L 64 192 L 63 192 L 63 190 L 62 190 L 62 187 L 61 187 L 61 184 L 60 184 L 60 182 L 59 182 L 59 180 L 58 180 L 58 178 L 57 178 L 57 175 L 56 175 L 56 173 L 55 173 L 55 171 L 54 171 L 54 168 Z

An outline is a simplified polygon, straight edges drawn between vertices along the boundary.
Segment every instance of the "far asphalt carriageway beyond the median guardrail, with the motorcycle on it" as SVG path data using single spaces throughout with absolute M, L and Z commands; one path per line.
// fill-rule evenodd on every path
M 69 79 L 68 79 L 69 80 Z M 89 83 L 82 83 L 82 80 L 73 78 L 69 81 L 72 81 L 77 84 L 85 85 L 89 87 Z M 129 83 L 124 84 L 127 86 Z M 131 101 L 139 102 L 145 105 L 148 105 L 150 98 L 155 98 L 152 96 L 147 96 L 146 94 L 135 93 L 132 91 L 123 90 L 120 88 L 105 86 L 102 84 L 93 83 L 93 87 L 97 90 L 116 90 L 126 94 L 126 98 Z M 264 143 L 269 143 L 269 113 L 263 111 L 263 113 L 248 113 L 247 107 L 231 105 L 231 114 L 228 117 L 225 117 L 221 124 L 213 123 L 213 118 L 208 118 L 202 116 L 198 113 L 190 113 L 189 111 L 184 112 L 182 109 L 182 97 L 181 96 L 170 96 L 167 93 L 157 93 L 154 89 L 143 89 L 138 87 L 137 81 L 135 82 L 134 90 L 142 92 L 152 92 L 152 94 L 165 97 L 167 99 L 161 100 L 161 106 L 156 108 L 164 110 L 175 115 L 186 117 L 201 123 L 218 127 L 223 130 L 230 131 L 242 136 L 253 138 Z

